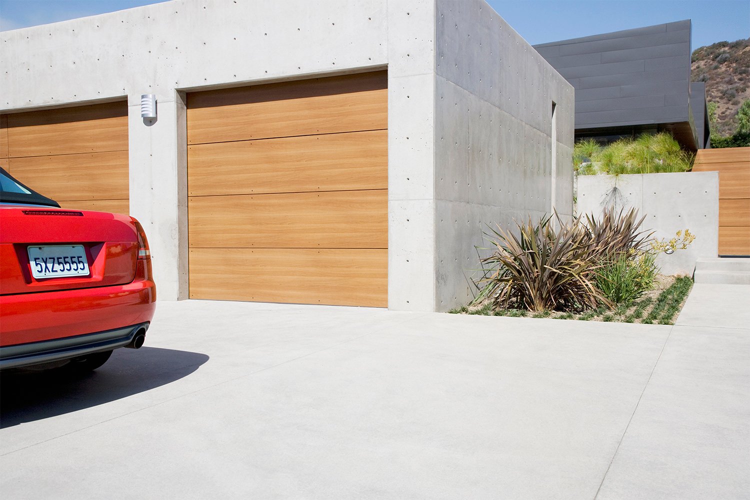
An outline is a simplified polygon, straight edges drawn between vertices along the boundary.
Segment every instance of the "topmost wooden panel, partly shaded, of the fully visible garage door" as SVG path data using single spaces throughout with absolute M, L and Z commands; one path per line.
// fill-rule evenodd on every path
M 187 94 L 187 144 L 388 128 L 385 71 Z

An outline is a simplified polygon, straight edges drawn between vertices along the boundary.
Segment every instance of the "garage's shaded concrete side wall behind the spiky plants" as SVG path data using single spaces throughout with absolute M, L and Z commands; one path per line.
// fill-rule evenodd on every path
M 438 0 L 436 38 L 435 307 L 442 311 L 472 298 L 475 247 L 487 246 L 487 225 L 513 227 L 552 208 L 572 214 L 574 94 L 484 1 Z

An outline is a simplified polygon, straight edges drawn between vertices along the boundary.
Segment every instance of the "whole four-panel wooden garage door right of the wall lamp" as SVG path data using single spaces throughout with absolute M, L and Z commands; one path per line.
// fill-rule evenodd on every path
M 187 95 L 190 298 L 387 307 L 386 85 Z

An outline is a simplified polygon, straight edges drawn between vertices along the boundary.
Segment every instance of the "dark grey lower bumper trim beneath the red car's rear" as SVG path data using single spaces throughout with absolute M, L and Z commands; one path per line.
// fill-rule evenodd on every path
M 136 334 L 145 334 L 148 323 L 130 325 L 95 334 L 77 335 L 0 347 L 0 370 L 62 361 L 93 352 L 110 351 L 133 342 Z

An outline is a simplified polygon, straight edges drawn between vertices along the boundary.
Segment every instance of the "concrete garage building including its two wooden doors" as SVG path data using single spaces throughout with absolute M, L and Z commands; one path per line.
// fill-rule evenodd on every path
M 485 224 L 572 213 L 573 87 L 484 1 L 175 0 L 0 38 L 0 164 L 138 218 L 161 299 L 449 310 Z

